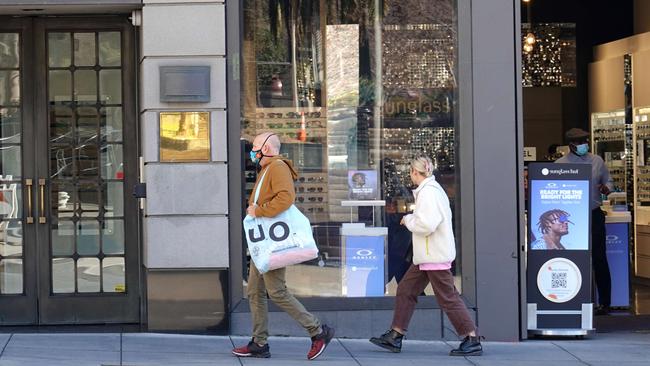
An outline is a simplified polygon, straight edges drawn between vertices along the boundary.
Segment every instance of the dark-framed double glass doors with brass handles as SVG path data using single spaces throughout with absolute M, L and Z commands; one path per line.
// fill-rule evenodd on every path
M 0 287 L 0 304 L 13 296 L 38 305 L 36 321 L 3 321 L 137 322 L 138 209 L 124 194 L 135 183 L 137 155 L 131 27 L 99 18 L 14 25 L 20 31 L 0 29 L 16 50 L 0 61 L 0 89 L 14 90 L 0 99 L 0 154 L 15 165 L 3 163 L 1 174 L 24 203 L 2 224 L 29 240 L 23 235 L 23 250 L 1 257 L 0 272 L 13 281 L 8 291 Z M 6 144 L 5 130 L 13 133 Z M 0 245 L 18 247 L 9 239 Z

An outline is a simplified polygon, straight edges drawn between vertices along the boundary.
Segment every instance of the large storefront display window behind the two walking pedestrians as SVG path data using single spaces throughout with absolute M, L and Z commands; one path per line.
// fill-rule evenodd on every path
M 418 154 L 431 157 L 458 220 L 457 44 L 454 0 L 244 1 L 242 149 L 262 132 L 281 137 L 320 249 L 288 268 L 296 295 L 395 294 Z M 250 162 L 243 179 L 248 197 Z

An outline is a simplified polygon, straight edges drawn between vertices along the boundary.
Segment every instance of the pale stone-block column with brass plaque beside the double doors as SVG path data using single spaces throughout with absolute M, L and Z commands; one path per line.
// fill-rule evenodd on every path
M 147 185 L 143 220 L 146 322 L 150 330 L 227 331 L 225 4 L 218 0 L 143 3 L 139 113 L 142 175 Z M 160 68 L 166 66 L 207 66 L 209 98 L 164 101 Z M 200 75 L 184 77 L 167 80 L 193 80 L 188 84 L 192 87 L 201 82 Z M 174 92 L 182 94 L 182 89 Z M 161 159 L 160 114 L 166 112 L 209 113 L 207 159 Z

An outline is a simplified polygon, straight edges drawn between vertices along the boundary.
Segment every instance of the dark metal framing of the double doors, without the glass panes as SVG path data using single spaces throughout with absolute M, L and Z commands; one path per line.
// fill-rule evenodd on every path
M 23 208 L 24 295 L 0 296 L 0 324 L 105 324 L 140 322 L 140 243 L 138 202 L 128 188 L 138 181 L 135 30 L 125 16 L 3 19 L 1 30 L 21 32 L 21 108 L 23 111 L 23 187 L 32 179 L 32 212 Z M 46 36 L 50 31 L 122 33 L 122 128 L 126 293 L 52 294 L 50 263 L 49 120 Z M 33 148 L 26 149 L 26 147 Z M 45 197 L 38 180 L 46 179 Z M 27 206 L 27 189 L 23 188 Z M 40 212 L 40 200 L 45 212 Z M 45 216 L 47 223 L 37 217 Z M 28 234 L 29 233 L 29 236 Z

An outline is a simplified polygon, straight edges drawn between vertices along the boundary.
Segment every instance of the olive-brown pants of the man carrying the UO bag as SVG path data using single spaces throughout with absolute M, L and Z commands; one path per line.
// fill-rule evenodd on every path
M 289 292 L 285 281 L 286 269 L 280 268 L 261 274 L 251 261 L 248 275 L 248 302 L 253 316 L 253 339 L 266 344 L 269 337 L 269 317 L 266 294 L 273 302 L 302 325 L 309 336 L 321 332 L 320 321 Z

